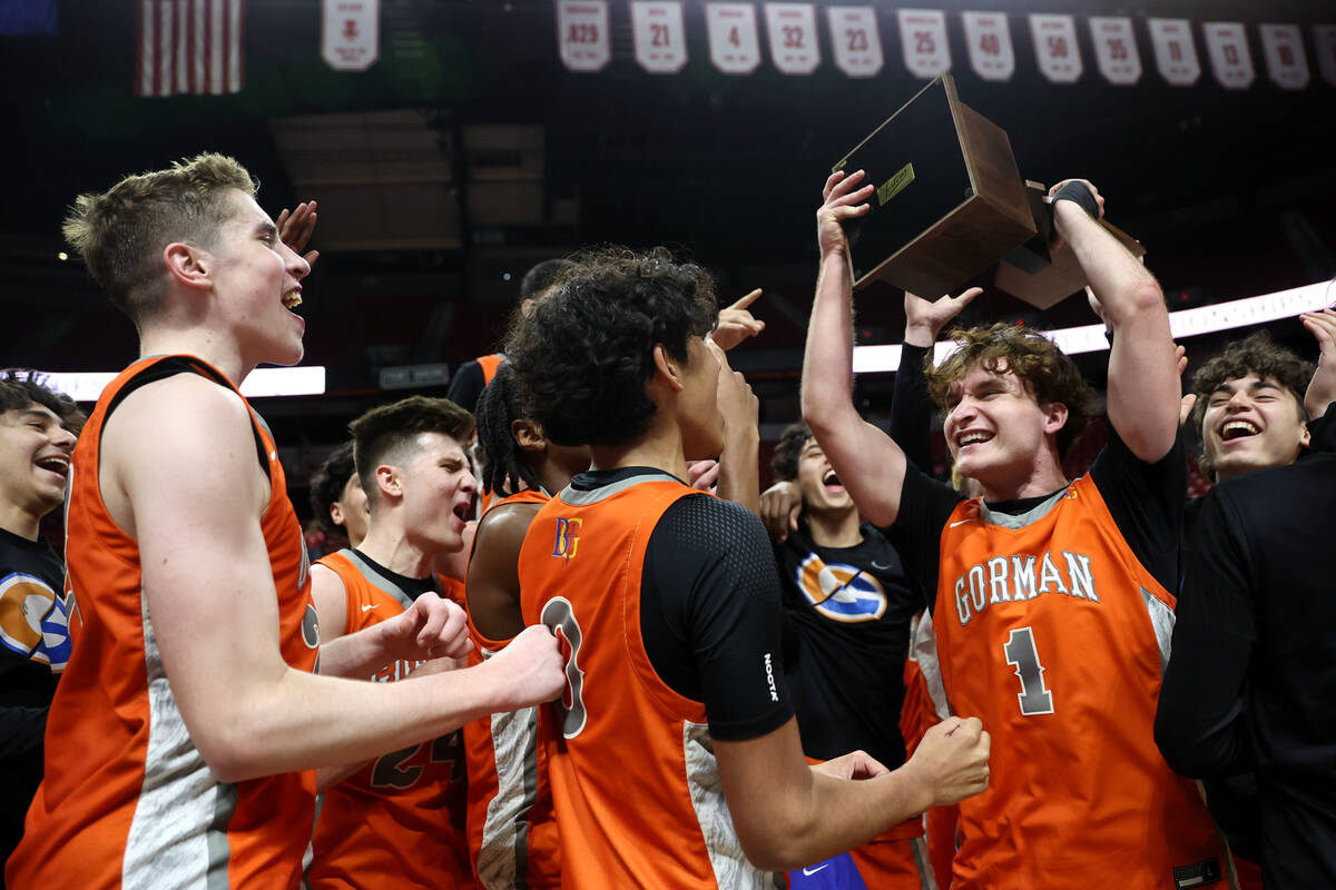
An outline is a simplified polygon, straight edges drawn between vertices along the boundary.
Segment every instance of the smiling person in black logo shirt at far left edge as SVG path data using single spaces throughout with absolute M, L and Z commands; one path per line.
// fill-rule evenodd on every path
M 40 524 L 64 499 L 83 422 L 36 374 L 0 372 L 0 861 L 41 781 L 47 709 L 69 659 L 64 563 Z

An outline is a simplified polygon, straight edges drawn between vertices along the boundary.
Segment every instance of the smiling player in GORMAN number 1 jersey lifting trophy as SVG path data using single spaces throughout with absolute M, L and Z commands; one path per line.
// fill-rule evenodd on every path
M 1114 331 L 1109 444 L 1069 483 L 1061 456 L 1089 395 L 1070 359 L 1015 326 L 958 331 L 963 346 L 929 383 L 951 456 L 982 486 L 982 498 L 965 500 L 910 464 L 850 399 L 843 220 L 868 209 L 862 181 L 862 171 L 834 173 L 818 211 L 803 416 L 863 515 L 903 535 L 951 709 L 979 714 L 999 739 L 990 789 L 961 805 L 953 887 L 1218 879 L 1205 807 L 1153 739 L 1186 488 L 1158 284 L 1098 226 L 1104 200 L 1089 183 L 1054 187 L 1057 232 Z

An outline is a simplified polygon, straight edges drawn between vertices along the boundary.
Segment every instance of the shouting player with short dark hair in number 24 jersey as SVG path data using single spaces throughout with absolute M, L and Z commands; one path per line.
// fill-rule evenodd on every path
M 358 547 L 311 567 L 326 642 L 387 622 L 418 596 L 445 594 L 432 568 L 464 547 L 477 488 L 464 451 L 473 415 L 448 399 L 410 396 L 367 411 L 349 430 L 354 479 L 370 483 L 370 524 Z M 399 681 L 414 667 L 398 660 L 366 679 Z M 325 791 L 309 885 L 370 887 L 393 875 L 402 886 L 472 887 L 465 803 L 458 730 L 358 766 Z

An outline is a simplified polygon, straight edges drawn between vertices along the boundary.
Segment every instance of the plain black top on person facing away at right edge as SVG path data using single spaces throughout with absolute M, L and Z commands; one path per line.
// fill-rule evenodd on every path
M 1333 518 L 1331 454 L 1202 499 L 1156 714 L 1184 775 L 1256 769 L 1267 886 L 1336 886 Z

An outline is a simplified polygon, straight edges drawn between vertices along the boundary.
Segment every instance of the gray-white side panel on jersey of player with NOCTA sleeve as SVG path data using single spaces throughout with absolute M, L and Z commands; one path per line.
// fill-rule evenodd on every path
M 715 881 L 728 890 L 767 890 L 767 887 L 775 890 L 787 886 L 783 874 L 758 871 L 743 853 L 737 829 L 733 827 L 733 817 L 728 811 L 728 802 L 724 801 L 709 727 L 683 721 L 681 745 L 687 755 L 687 789 L 691 793 L 691 806 L 696 811 L 696 822 L 705 839 Z

